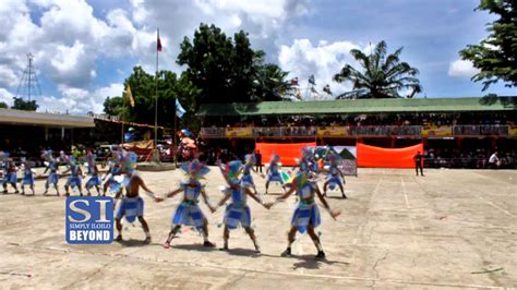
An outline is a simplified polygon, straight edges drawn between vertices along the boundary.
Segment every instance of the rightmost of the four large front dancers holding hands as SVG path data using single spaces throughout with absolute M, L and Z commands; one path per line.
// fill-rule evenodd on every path
M 296 192 L 299 197 L 299 203 L 297 205 L 297 208 L 294 209 L 294 214 L 292 215 L 291 219 L 291 229 L 289 230 L 287 235 L 287 249 L 286 251 L 284 251 L 281 256 L 291 255 L 291 244 L 292 242 L 294 242 L 297 231 L 299 231 L 300 233 L 304 233 L 306 231 L 317 249 L 316 258 L 325 257 L 325 252 L 323 252 L 320 238 L 314 232 L 314 228 L 316 228 L 321 223 L 320 210 L 314 201 L 315 195 L 317 195 L 322 204 L 325 206 L 325 208 L 328 210 L 328 213 L 334 219 L 336 219 L 336 217 L 340 215 L 340 212 L 330 210 L 330 207 L 328 206 L 327 202 L 325 201 L 317 188 L 317 183 L 311 182 L 309 178 L 310 174 L 304 172 L 298 172 L 297 176 L 292 179 L 291 189 L 284 195 L 277 197 L 274 203 L 266 204 L 266 206 L 270 208 L 276 203 L 287 198 L 293 192 Z

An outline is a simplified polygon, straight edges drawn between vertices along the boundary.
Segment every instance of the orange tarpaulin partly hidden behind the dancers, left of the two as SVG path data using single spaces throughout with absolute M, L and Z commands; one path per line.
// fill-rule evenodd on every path
M 294 161 L 294 158 L 301 157 L 301 149 L 311 146 L 316 146 L 316 143 L 256 143 L 255 148 L 261 152 L 263 164 L 268 164 L 270 156 L 276 153 L 280 156 L 280 162 L 282 166 L 296 166 L 297 162 Z

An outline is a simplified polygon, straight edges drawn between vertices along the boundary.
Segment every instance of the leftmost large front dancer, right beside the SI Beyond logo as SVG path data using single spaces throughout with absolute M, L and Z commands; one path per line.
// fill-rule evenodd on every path
M 117 242 L 122 241 L 122 218 L 129 222 L 134 222 L 139 218 L 142 228 L 144 229 L 145 240 L 144 243 L 151 243 L 151 232 L 147 221 L 144 219 L 144 200 L 140 196 L 139 190 L 142 188 L 145 193 L 155 200 L 155 202 L 161 201 L 156 194 L 145 185 L 144 180 L 135 171 L 137 156 L 133 152 L 123 153 L 122 156 L 124 168 L 121 173 L 124 176 L 122 185 L 125 188 L 125 196 L 122 197 L 119 209 L 115 217 L 115 222 L 118 231 L 118 235 L 115 239 Z

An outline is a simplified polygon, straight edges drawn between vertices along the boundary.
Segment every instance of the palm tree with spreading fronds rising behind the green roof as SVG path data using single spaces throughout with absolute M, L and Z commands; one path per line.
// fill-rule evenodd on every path
M 350 50 L 352 57 L 361 64 L 364 72 L 360 72 L 346 64 L 334 81 L 353 83 L 353 90 L 341 94 L 337 98 L 401 98 L 399 92 L 412 90 L 407 97 L 412 98 L 422 87 L 416 77 L 419 71 L 407 62 L 400 62 L 402 48 L 386 56 L 386 43 L 383 40 L 366 56 L 359 49 Z

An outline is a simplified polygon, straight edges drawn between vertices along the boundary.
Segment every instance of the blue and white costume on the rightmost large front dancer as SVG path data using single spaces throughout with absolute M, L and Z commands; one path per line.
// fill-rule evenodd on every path
M 316 228 L 321 225 L 321 216 L 317 205 L 314 201 L 315 184 L 305 182 L 301 186 L 297 186 L 296 192 L 300 202 L 294 209 L 291 218 L 291 225 L 298 228 L 298 231 L 303 233 L 306 231 L 309 225 Z

